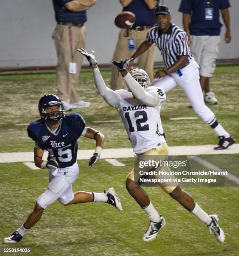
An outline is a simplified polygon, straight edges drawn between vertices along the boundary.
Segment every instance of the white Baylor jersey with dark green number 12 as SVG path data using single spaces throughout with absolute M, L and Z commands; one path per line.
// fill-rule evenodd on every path
M 141 72 L 141 70 L 135 69 L 131 74 Z M 164 92 L 157 87 L 148 87 L 145 91 L 159 97 L 159 104 L 154 108 L 143 104 L 136 98 L 134 99 L 132 92 L 128 90 L 116 91 L 120 96 L 119 112 L 131 141 L 133 151 L 136 154 L 142 154 L 165 142 L 160 119 L 160 107 L 166 96 Z M 148 123 L 152 125 L 149 126 Z

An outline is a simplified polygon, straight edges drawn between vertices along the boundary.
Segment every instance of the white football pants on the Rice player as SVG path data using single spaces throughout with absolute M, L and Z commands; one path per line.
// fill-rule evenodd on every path
M 78 177 L 79 168 L 77 162 L 70 167 L 59 168 L 53 176 L 55 169 L 49 170 L 49 185 L 47 190 L 41 194 L 36 202 L 40 207 L 46 208 L 58 199 L 63 205 L 73 200 L 72 184 Z

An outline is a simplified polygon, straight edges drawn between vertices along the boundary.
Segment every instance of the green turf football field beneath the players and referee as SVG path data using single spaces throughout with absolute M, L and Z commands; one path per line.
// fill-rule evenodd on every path
M 109 84 L 110 71 L 102 72 Z M 239 141 L 239 65 L 219 65 L 211 79 L 211 88 L 219 105 L 209 106 L 219 122 Z M 27 124 L 39 118 L 38 100 L 45 93 L 56 93 L 55 73 L 18 73 L 0 76 L 0 153 L 33 151 L 34 143 L 26 133 Z M 122 123 L 94 123 L 120 120 L 117 111 L 98 95 L 91 71 L 80 76 L 79 95 L 92 103 L 80 110 L 86 124 L 106 136 L 105 148 L 130 147 Z M 214 131 L 198 118 L 170 120 L 173 117 L 197 117 L 187 107 L 187 99 L 177 87 L 167 93 L 161 119 L 169 146 L 216 144 Z M 20 124 L 20 125 L 19 125 Z M 79 139 L 79 149 L 94 148 L 95 142 Z M 228 164 L 218 158 L 207 161 L 228 170 Z M 126 166 L 112 166 L 101 159 L 93 168 L 88 161 L 78 161 L 80 174 L 73 190 L 103 192 L 114 187 L 120 197 L 123 212 L 101 202 L 63 207 L 54 202 L 43 218 L 18 244 L 4 244 L 33 210 L 35 199 L 48 185 L 47 170 L 32 170 L 23 163 L 0 163 L 0 248 L 30 247 L 30 255 L 238 255 L 239 202 L 238 187 L 185 187 L 194 200 L 209 214 L 219 215 L 226 241 L 219 244 L 208 228 L 158 187 L 146 187 L 153 205 L 166 218 L 166 226 L 158 237 L 142 241 L 148 227 L 145 213 L 125 188 L 125 177 L 133 167 L 133 159 L 118 159 Z M 234 165 L 234 170 L 236 169 Z M 238 174 L 234 171 L 234 175 Z M 13 255 L 11 253 L 11 255 Z

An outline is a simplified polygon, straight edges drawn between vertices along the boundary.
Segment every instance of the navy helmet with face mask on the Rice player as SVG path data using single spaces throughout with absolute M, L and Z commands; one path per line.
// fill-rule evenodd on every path
M 46 113 L 45 109 L 53 106 L 59 106 L 59 111 Z M 48 120 L 50 122 L 57 122 L 65 116 L 65 111 L 60 98 L 54 94 L 46 94 L 40 98 L 38 103 L 38 110 L 40 117 L 43 120 Z

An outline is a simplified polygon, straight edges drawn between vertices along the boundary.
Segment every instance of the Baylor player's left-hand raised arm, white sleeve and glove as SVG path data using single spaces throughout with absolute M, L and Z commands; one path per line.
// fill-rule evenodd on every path
M 78 51 L 86 56 L 86 59 L 89 61 L 91 68 L 93 69 L 94 81 L 96 88 L 104 100 L 114 108 L 119 108 L 120 96 L 106 87 L 106 84 L 101 76 L 101 72 L 98 69 L 97 61 L 95 59 L 95 51 L 91 51 L 91 54 L 88 54 L 87 51 L 83 48 L 78 49 Z

